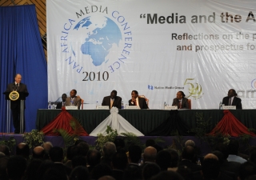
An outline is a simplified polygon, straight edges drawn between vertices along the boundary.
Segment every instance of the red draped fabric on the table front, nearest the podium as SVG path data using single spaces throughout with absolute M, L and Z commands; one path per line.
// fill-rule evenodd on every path
M 54 118 L 53 121 L 51 121 L 49 124 L 44 126 L 41 131 L 46 136 L 59 136 L 60 134 L 58 132 L 54 132 L 54 130 L 59 130 L 59 129 L 66 130 L 68 134 L 74 134 L 74 130 L 70 126 L 70 120 L 72 118 L 73 117 L 71 116 L 71 114 L 69 114 L 65 110 L 65 108 L 62 108 L 62 112 L 58 114 L 58 116 Z M 81 125 L 79 126 L 79 132 L 80 132 L 80 134 L 78 134 L 79 136 L 89 135 L 86 133 L 86 130 L 84 130 Z

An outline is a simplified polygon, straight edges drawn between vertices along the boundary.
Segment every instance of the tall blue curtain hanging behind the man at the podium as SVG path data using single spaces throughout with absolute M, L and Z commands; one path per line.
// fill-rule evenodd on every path
M 35 129 L 38 109 L 47 107 L 47 66 L 34 5 L 0 6 L 0 132 L 6 132 L 6 100 L 2 94 L 15 74 L 22 75 L 26 98 L 26 132 Z M 10 125 L 10 132 L 14 132 Z

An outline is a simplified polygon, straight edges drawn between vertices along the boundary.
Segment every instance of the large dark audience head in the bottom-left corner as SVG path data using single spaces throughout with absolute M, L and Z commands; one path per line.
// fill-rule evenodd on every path
M 26 171 L 26 159 L 22 156 L 10 157 L 6 170 L 10 179 L 22 179 Z

